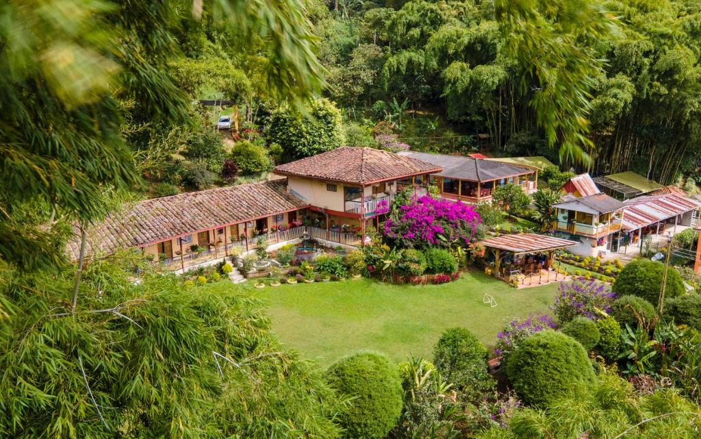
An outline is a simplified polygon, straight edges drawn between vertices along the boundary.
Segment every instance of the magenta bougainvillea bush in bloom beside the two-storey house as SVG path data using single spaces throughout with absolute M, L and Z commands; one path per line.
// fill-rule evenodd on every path
M 412 198 L 385 222 L 384 235 L 402 248 L 468 245 L 481 222 L 472 206 L 430 196 Z

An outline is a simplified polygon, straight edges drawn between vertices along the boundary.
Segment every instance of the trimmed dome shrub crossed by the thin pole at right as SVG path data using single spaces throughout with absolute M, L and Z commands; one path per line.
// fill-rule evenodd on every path
M 657 304 L 664 274 L 665 264 L 648 259 L 635 259 L 618 273 L 613 283 L 613 291 L 619 296 L 634 295 L 646 299 L 651 304 Z M 679 271 L 670 266 L 667 272 L 665 297 L 678 297 L 683 293 L 684 285 Z

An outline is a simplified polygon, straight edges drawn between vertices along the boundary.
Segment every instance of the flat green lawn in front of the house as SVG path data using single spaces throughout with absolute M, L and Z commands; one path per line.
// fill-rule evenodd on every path
M 322 365 L 367 349 L 394 360 L 410 353 L 430 356 L 441 332 L 455 326 L 494 344 L 505 321 L 547 311 L 557 290 L 556 285 L 516 290 L 479 272 L 444 285 L 388 285 L 362 278 L 244 288 L 269 304 L 273 330 L 284 344 Z M 482 303 L 485 292 L 498 306 Z

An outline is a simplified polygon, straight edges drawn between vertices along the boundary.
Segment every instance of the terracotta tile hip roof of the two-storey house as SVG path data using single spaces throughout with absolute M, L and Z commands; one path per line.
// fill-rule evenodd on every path
M 435 166 L 373 148 L 340 147 L 292 163 L 275 166 L 274 173 L 318 180 L 369 184 L 423 173 L 439 173 Z

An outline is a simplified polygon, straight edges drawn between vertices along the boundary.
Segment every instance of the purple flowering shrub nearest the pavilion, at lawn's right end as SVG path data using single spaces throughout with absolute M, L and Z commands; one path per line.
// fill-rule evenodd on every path
M 550 309 L 560 324 L 578 316 L 598 320 L 604 316 L 597 309 L 610 313 L 615 299 L 615 292 L 594 279 L 576 278 L 571 283 L 561 283 L 559 290 L 560 294 Z

